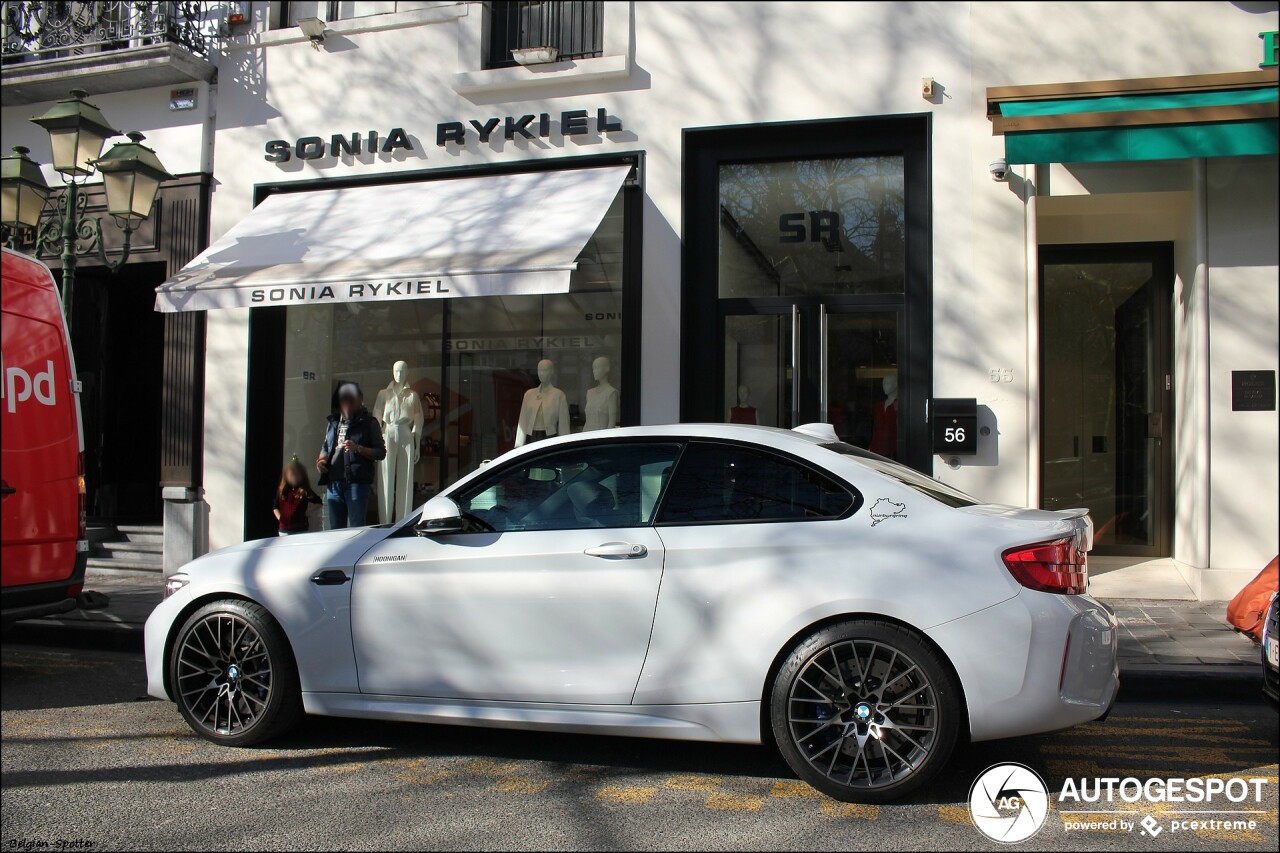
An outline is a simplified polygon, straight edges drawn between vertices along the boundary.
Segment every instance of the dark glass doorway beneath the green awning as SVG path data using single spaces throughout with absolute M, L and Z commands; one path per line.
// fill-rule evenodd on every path
M 1100 556 L 1171 552 L 1169 243 L 1041 247 L 1041 506 Z

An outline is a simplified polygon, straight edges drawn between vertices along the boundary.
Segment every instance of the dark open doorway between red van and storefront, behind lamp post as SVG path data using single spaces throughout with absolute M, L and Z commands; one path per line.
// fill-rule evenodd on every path
M 164 315 L 155 288 L 165 264 L 128 264 L 111 274 L 76 270 L 72 350 L 81 380 L 88 515 L 109 524 L 156 524 Z

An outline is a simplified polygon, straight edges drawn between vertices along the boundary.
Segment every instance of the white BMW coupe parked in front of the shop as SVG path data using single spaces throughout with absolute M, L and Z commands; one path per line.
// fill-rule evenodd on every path
M 831 797 L 886 802 L 961 738 L 1107 712 L 1092 534 L 823 424 L 552 438 L 399 524 L 189 564 L 147 620 L 148 689 L 229 745 L 302 713 L 772 742 Z

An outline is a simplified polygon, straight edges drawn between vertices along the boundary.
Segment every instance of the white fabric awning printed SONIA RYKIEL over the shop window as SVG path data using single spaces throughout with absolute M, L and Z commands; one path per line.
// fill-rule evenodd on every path
M 566 293 L 628 172 L 280 192 L 157 287 L 156 310 Z

